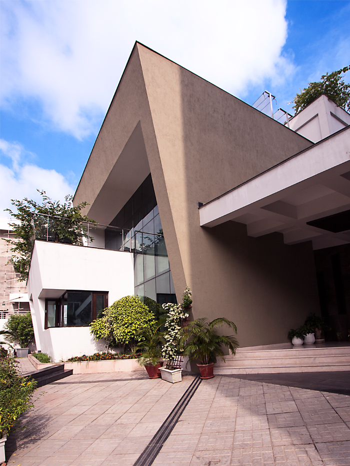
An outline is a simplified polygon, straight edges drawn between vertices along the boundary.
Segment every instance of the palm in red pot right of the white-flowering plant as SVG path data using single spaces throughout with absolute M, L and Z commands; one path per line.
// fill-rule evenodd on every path
M 211 379 L 214 377 L 213 366 L 219 357 L 225 360 L 222 346 L 228 348 L 232 355 L 235 355 L 238 348 L 238 341 L 233 335 L 218 335 L 217 327 L 227 325 L 237 333 L 237 327 L 233 322 L 219 317 L 211 322 L 207 319 L 197 319 L 189 322 L 181 331 L 179 348 L 189 361 L 199 361 L 197 363 L 200 378 Z

